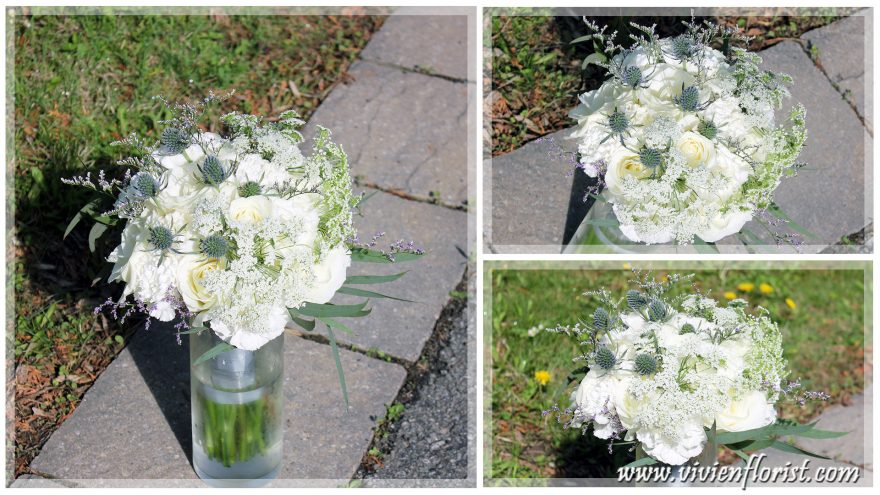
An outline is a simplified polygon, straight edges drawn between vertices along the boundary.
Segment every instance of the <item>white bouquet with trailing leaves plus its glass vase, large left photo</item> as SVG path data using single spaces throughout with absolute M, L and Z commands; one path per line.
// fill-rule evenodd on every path
M 189 334 L 193 361 L 194 466 L 205 479 L 266 478 L 280 465 L 283 346 L 290 324 L 326 326 L 342 395 L 348 404 L 335 331 L 341 317 L 366 316 L 371 298 L 388 298 L 364 284 L 403 274 L 347 276 L 352 261 L 419 258 L 412 243 L 387 251 L 358 240 L 348 160 L 330 132 L 318 127 L 314 150 L 300 150 L 303 124 L 292 111 L 276 120 L 230 113 L 228 134 L 200 127 L 226 96 L 198 103 L 162 102 L 173 117 L 155 143 L 131 136 L 118 144 L 121 179 L 100 172 L 66 180 L 100 193 L 68 226 L 96 220 L 95 241 L 124 222 L 110 253 L 110 281 L 125 284 L 108 309 L 124 321 L 143 312 L 177 320 L 178 341 Z M 102 206 L 106 205 L 106 206 Z M 333 304 L 335 294 L 363 297 Z M 395 298 L 396 299 L 396 298 Z M 402 300 L 402 299 L 401 299 Z M 149 318 L 147 327 L 149 328 Z

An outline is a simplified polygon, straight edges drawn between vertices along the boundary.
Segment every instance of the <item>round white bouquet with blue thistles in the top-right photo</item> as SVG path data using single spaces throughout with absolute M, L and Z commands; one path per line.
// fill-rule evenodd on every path
M 590 25 L 588 23 L 588 25 Z M 634 242 L 714 242 L 742 229 L 771 205 L 793 174 L 806 139 L 804 108 L 789 125 L 774 121 L 791 78 L 759 68 L 760 57 L 710 46 L 721 28 L 687 24 L 660 39 L 653 28 L 629 48 L 607 43 L 610 78 L 580 96 L 572 111 L 580 167 L 599 177 L 620 230 Z

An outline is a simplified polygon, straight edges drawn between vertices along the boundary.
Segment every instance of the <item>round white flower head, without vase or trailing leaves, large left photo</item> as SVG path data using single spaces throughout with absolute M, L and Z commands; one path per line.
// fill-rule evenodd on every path
M 184 112 L 185 114 L 185 112 Z M 302 121 L 282 114 L 223 118 L 231 135 L 200 132 L 184 117 L 161 145 L 129 160 L 113 213 L 127 219 L 109 256 L 150 316 L 188 316 L 228 343 L 254 350 L 280 335 L 288 308 L 329 301 L 351 264 L 352 184 L 342 148 L 319 128 L 300 152 Z

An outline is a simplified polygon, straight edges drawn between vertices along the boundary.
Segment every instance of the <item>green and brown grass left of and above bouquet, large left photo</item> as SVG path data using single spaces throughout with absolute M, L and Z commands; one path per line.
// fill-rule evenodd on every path
M 357 14 L 358 9 L 349 9 Z M 88 192 L 61 184 L 121 158 L 110 143 L 156 136 L 159 102 L 236 89 L 225 111 L 308 119 L 383 17 L 19 13 L 15 91 L 15 475 L 119 352 L 131 326 L 92 315 L 120 288 L 102 256 L 114 233 L 87 249 L 88 226 L 62 241 Z M 168 338 L 172 338 L 170 335 Z

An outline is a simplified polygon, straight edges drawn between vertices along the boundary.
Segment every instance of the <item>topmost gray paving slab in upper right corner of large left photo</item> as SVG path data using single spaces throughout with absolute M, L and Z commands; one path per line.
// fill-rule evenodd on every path
M 469 77 L 467 15 L 407 15 L 400 9 L 361 52 L 364 60 L 461 80 Z

